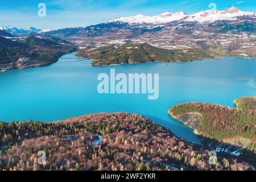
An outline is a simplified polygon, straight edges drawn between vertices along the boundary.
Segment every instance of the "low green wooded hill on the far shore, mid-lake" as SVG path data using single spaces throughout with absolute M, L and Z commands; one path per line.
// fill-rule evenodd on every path
M 213 58 L 199 49 L 168 50 L 149 44 L 124 44 L 92 49 L 79 49 L 78 56 L 95 60 L 92 65 L 139 64 L 146 62 L 185 62 Z

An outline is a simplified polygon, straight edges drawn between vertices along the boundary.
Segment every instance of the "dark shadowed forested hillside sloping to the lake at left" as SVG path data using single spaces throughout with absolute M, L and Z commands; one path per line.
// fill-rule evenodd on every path
M 31 35 L 19 40 L 0 36 L 0 71 L 51 64 L 75 50 L 72 44 L 50 36 Z

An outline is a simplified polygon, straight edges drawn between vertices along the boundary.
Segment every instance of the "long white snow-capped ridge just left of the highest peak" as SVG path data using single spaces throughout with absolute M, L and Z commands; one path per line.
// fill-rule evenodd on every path
M 173 22 L 175 20 L 183 19 L 188 15 L 184 11 L 178 11 L 176 13 L 162 13 L 156 16 L 145 16 L 142 14 L 128 17 L 121 17 L 119 19 L 113 19 L 110 22 L 125 22 L 129 24 L 142 24 L 142 23 L 152 23 L 152 24 L 162 24 Z

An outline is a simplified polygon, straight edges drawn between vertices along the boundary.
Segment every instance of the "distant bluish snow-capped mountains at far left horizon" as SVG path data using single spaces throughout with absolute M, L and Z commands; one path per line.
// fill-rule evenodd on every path
M 11 26 L 1 26 L 0 30 L 6 31 L 9 34 L 16 35 L 16 36 L 26 36 L 31 33 L 41 33 L 41 32 L 47 32 L 50 30 L 42 30 L 39 28 L 35 27 L 30 27 L 30 28 L 16 28 L 16 27 L 11 27 Z

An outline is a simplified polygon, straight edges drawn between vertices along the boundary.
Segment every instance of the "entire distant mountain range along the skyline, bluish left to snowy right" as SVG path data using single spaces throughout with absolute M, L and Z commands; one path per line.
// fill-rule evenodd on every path
M 104 26 L 104 24 L 109 24 L 109 26 L 113 26 L 113 24 L 122 25 L 145 25 L 152 24 L 153 26 L 159 26 L 160 24 L 166 24 L 170 22 L 198 22 L 198 23 L 213 23 L 218 22 L 220 20 L 256 20 L 256 13 L 241 11 L 237 9 L 237 7 L 231 7 L 230 9 L 226 9 L 223 11 L 214 11 L 214 10 L 206 10 L 200 11 L 199 13 L 188 15 L 184 11 L 177 11 L 176 13 L 162 13 L 155 16 L 146 16 L 142 14 L 138 14 L 135 16 L 126 16 L 118 19 L 110 20 L 106 23 L 101 23 L 96 26 L 88 26 L 88 27 L 74 27 L 74 28 L 63 28 L 59 30 L 48 30 L 48 29 L 39 29 L 39 28 L 16 28 L 11 26 L 1 26 L 0 30 L 6 31 L 10 34 L 16 36 L 26 36 L 31 33 L 35 34 L 55 34 L 56 32 L 68 32 L 65 36 L 72 36 L 74 33 L 78 34 L 79 32 L 89 32 L 90 28 L 106 28 L 108 26 Z

